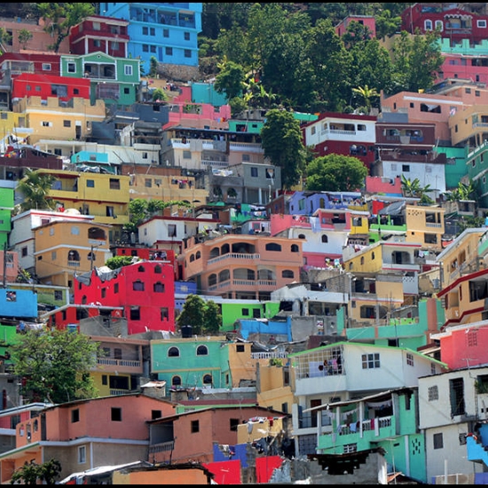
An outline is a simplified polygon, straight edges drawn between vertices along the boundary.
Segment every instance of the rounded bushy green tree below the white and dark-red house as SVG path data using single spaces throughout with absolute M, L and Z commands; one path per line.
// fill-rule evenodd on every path
M 306 189 L 317 192 L 358 192 L 365 185 L 367 168 L 362 161 L 342 154 L 327 154 L 307 167 Z

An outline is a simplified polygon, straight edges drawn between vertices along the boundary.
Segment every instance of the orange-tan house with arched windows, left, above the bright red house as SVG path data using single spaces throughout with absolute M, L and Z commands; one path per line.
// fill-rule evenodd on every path
M 110 226 L 53 221 L 35 228 L 35 274 L 46 285 L 73 288 L 74 274 L 102 266 L 112 252 Z

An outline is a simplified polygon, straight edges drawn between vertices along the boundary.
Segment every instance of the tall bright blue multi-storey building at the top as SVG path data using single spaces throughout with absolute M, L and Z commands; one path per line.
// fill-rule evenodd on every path
M 130 42 L 128 51 L 133 58 L 144 62 L 147 73 L 151 58 L 164 63 L 164 68 L 193 68 L 174 70 L 185 79 L 198 72 L 198 34 L 201 32 L 201 3 L 146 4 L 108 3 L 99 4 L 103 17 L 129 20 L 127 28 Z M 177 76 L 174 76 L 177 78 Z

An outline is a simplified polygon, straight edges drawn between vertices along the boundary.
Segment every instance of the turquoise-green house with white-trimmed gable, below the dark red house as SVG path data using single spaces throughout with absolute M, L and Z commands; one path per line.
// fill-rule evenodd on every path
M 131 58 L 114 58 L 104 52 L 62 55 L 61 75 L 89 78 L 90 101 L 102 99 L 106 106 L 131 106 L 138 99 L 140 61 Z

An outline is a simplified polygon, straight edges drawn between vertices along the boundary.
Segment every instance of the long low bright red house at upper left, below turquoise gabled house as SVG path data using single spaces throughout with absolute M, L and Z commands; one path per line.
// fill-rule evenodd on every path
M 58 97 L 68 101 L 72 98 L 90 100 L 91 82 L 85 78 L 67 76 L 36 75 L 22 73 L 12 80 L 12 99 L 24 97 Z

